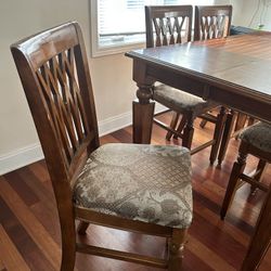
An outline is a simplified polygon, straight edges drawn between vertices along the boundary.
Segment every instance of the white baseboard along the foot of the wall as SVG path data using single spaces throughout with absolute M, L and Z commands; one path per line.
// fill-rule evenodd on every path
M 156 104 L 155 113 L 167 109 L 160 104 Z M 114 117 L 99 121 L 100 137 L 119 130 L 132 124 L 132 113 L 127 112 Z M 27 166 L 31 163 L 42 159 L 43 153 L 39 143 L 35 143 L 22 149 L 17 149 L 8 154 L 0 155 L 0 176 L 12 170 Z

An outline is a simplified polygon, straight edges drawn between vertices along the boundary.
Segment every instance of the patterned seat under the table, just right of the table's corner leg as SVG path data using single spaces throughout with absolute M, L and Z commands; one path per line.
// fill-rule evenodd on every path
M 195 116 L 218 106 L 215 102 L 204 101 L 199 96 L 192 95 L 166 85 L 156 86 L 154 88 L 153 98 L 155 101 L 178 113 L 193 112 Z

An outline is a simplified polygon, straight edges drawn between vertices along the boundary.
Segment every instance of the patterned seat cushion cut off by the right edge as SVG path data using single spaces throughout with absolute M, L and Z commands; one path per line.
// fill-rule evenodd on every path
M 266 122 L 249 126 L 240 138 L 263 152 L 271 152 L 271 126 Z

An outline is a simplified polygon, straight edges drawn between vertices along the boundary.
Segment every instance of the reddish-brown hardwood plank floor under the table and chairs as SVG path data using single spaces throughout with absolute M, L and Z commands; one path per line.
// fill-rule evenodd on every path
M 169 115 L 165 116 L 169 118 Z M 198 127 L 198 124 L 196 124 Z M 210 137 L 212 125 L 197 128 L 194 143 Z M 131 142 L 131 127 L 101 138 L 101 143 Z M 154 126 L 153 144 L 180 144 L 165 141 L 165 131 Z M 220 205 L 236 157 L 238 142 L 231 140 L 221 169 L 209 166 L 209 149 L 192 158 L 194 189 L 194 219 L 189 231 L 183 270 L 238 270 L 246 253 L 249 235 L 262 204 L 264 193 L 258 191 L 249 196 L 244 185 L 231 209 L 221 221 Z M 255 163 L 249 159 L 248 168 Z M 270 180 L 270 167 L 263 181 Z M 79 236 L 78 236 L 79 237 Z M 80 236 L 81 237 L 81 236 Z M 163 257 L 164 240 L 134 233 L 108 230 L 92 225 L 86 242 L 130 251 L 149 253 Z M 60 228 L 55 202 L 43 160 L 0 177 L 0 271 L 59 270 L 61 259 Z M 77 254 L 78 271 L 140 271 L 156 270 L 139 264 L 94 256 Z M 261 271 L 271 270 L 271 249 L 260 266 Z

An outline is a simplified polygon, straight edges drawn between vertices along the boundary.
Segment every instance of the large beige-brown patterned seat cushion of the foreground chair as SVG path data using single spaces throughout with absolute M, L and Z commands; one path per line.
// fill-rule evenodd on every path
M 188 228 L 192 221 L 190 152 L 180 146 L 102 145 L 79 175 L 74 202 L 103 214 Z

